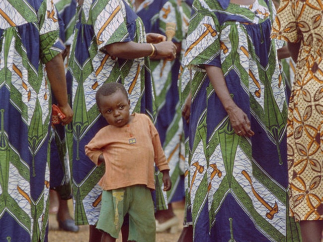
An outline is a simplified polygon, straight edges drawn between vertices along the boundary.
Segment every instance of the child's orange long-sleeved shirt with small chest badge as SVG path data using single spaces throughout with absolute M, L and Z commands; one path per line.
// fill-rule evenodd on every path
M 133 114 L 131 123 L 107 125 L 85 145 L 85 154 L 96 164 L 103 154 L 105 174 L 99 182 L 104 190 L 136 184 L 155 189 L 154 162 L 160 171 L 169 170 L 156 127 L 148 116 Z

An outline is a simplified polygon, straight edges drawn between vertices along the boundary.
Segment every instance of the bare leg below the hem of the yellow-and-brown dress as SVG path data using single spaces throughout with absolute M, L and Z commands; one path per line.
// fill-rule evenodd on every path
M 321 242 L 323 221 L 301 221 L 301 233 L 303 242 Z

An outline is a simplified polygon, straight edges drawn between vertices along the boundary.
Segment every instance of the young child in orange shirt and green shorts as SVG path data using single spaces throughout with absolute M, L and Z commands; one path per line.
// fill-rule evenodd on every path
M 148 116 L 130 115 L 130 100 L 124 86 L 103 84 L 96 104 L 110 124 L 100 129 L 85 146 L 85 154 L 96 164 L 105 162 L 102 207 L 96 228 L 101 242 L 115 242 L 129 214 L 129 241 L 155 242 L 156 222 L 151 189 L 155 189 L 154 161 L 163 174 L 164 190 L 171 188 L 169 167 L 159 134 Z

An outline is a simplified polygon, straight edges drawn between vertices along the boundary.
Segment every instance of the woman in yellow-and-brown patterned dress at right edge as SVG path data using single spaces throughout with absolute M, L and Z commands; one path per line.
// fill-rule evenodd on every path
M 272 30 L 296 62 L 287 126 L 289 201 L 304 242 L 321 242 L 323 229 L 322 11 L 321 0 L 283 0 Z

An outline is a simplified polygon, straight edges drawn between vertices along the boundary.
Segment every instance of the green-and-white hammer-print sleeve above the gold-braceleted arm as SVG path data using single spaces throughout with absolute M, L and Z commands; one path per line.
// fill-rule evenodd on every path
M 126 19 L 125 5 L 122 0 L 108 0 L 106 4 L 93 7 L 92 22 L 99 49 L 116 42 L 131 41 Z

